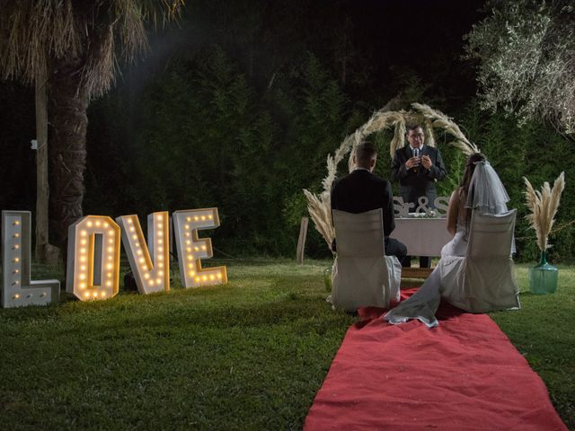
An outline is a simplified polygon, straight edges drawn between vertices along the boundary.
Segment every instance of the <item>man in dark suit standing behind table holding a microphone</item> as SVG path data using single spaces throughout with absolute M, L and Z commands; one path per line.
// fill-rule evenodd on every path
M 447 176 L 445 163 L 437 148 L 425 145 L 425 134 L 420 125 L 407 129 L 407 140 L 409 145 L 395 152 L 392 180 L 399 181 L 399 193 L 403 203 L 411 204 L 410 212 L 420 207 L 421 197 L 428 198 L 428 207 L 434 208 L 435 183 Z M 420 257 L 420 268 L 429 268 L 430 263 L 429 257 Z

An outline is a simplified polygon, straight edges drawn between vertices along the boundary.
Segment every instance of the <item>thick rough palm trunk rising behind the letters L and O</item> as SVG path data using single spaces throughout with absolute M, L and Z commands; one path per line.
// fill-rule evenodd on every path
M 57 59 L 51 66 L 51 220 L 66 265 L 68 226 L 83 215 L 88 93 L 79 72 L 81 60 Z

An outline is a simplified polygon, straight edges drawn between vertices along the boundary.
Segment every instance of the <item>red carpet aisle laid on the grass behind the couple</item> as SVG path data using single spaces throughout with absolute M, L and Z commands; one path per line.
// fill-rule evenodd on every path
M 489 316 L 442 306 L 438 320 L 433 330 L 381 319 L 352 326 L 304 429 L 567 429 L 544 383 Z

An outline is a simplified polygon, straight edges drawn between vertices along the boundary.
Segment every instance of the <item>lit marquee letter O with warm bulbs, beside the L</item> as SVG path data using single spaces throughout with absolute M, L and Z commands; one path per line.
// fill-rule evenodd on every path
M 108 299 L 119 290 L 119 225 L 85 216 L 68 228 L 66 292 L 78 299 Z

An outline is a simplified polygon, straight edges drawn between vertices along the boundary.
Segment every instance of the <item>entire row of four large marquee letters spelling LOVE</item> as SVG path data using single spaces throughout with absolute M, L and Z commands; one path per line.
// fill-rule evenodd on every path
M 167 212 L 148 216 L 147 242 L 137 216 L 85 216 L 68 228 L 66 292 L 82 301 L 108 299 L 119 291 L 119 248 L 141 294 L 170 290 L 170 219 Z M 173 213 L 181 284 L 184 287 L 227 283 L 226 267 L 201 268 L 213 256 L 211 241 L 198 231 L 219 226 L 217 208 Z M 2 212 L 2 305 L 44 304 L 58 297 L 57 280 L 31 281 L 31 213 Z

